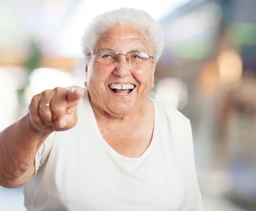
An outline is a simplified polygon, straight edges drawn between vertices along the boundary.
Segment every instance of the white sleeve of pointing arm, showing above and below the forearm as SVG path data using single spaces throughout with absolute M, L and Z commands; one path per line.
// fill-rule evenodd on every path
M 20 115 L 19 119 L 26 116 L 26 114 L 29 112 L 29 109 L 26 108 L 25 111 Z M 47 160 L 47 157 L 50 154 L 53 141 L 55 139 L 56 132 L 52 132 L 47 139 L 44 141 L 44 143 L 39 148 L 37 154 L 35 155 L 35 174 L 37 173 L 38 169 L 41 168 L 41 166 L 44 164 L 44 162 Z

